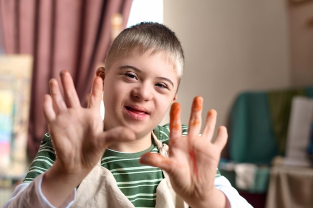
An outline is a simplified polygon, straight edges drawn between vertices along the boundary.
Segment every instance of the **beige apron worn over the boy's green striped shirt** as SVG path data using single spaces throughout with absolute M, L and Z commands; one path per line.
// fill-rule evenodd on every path
M 162 144 L 153 134 L 159 153 L 168 157 L 168 146 Z M 174 192 L 168 175 L 163 171 L 164 179 L 156 188 L 155 208 L 188 208 L 188 205 Z M 118 189 L 109 170 L 97 164 L 82 180 L 77 189 L 76 200 L 71 208 L 135 208 Z

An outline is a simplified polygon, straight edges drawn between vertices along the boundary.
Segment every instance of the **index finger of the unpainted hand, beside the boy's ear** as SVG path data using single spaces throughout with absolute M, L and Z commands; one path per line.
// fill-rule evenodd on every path
M 103 80 L 100 77 L 94 77 L 91 93 L 89 96 L 88 108 L 99 109 L 103 92 Z

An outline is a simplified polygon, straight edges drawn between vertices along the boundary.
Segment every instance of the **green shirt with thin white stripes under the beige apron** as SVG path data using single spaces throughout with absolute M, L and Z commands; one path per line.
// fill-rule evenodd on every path
M 187 126 L 182 126 L 182 135 L 187 134 Z M 153 130 L 156 138 L 168 144 L 169 125 L 157 126 Z M 153 208 L 156 201 L 156 187 L 164 178 L 159 168 L 139 164 L 143 153 L 157 153 L 157 146 L 152 139 L 149 149 L 138 153 L 122 153 L 107 149 L 102 158 L 101 166 L 108 169 L 114 176 L 118 188 L 136 208 Z M 47 171 L 55 161 L 55 153 L 49 134 L 42 138 L 38 153 L 34 158 L 23 183 L 30 183 L 39 174 Z M 220 176 L 217 170 L 215 177 Z

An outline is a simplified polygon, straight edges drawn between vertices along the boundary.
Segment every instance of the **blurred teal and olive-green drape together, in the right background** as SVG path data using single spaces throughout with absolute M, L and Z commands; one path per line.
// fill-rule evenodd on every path
M 313 97 L 313 86 L 240 93 L 229 115 L 229 159 L 270 165 L 273 157 L 284 155 L 295 95 Z

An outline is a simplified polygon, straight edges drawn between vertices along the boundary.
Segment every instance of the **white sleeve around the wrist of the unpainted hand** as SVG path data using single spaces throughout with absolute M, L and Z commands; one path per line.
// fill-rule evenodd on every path
M 55 208 L 41 192 L 42 176 L 36 177 L 30 184 L 19 184 L 12 193 L 11 199 L 2 208 Z M 65 200 L 61 208 L 69 208 L 76 198 L 76 190 Z

